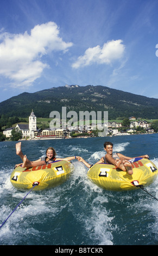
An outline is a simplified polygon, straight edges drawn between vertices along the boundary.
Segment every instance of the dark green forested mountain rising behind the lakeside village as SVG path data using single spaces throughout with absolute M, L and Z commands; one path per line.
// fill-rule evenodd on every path
M 49 118 L 52 111 L 108 111 L 109 120 L 117 117 L 158 119 L 158 99 L 123 92 L 104 86 L 64 86 L 22 93 L 0 103 L 0 115 Z

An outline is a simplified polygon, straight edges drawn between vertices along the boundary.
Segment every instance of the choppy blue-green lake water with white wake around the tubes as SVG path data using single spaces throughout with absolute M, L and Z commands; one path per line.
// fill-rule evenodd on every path
M 23 153 L 36 160 L 49 146 L 58 157 L 82 156 L 95 163 L 105 141 L 127 156 L 148 154 L 158 166 L 158 135 L 56 139 L 22 142 Z M 16 142 L 0 143 L 0 224 L 26 196 L 12 187 Z M 112 192 L 92 184 L 87 168 L 73 161 L 74 172 L 64 184 L 31 191 L 0 229 L 0 245 L 157 245 L 158 202 L 142 190 Z M 147 190 L 158 198 L 158 180 Z

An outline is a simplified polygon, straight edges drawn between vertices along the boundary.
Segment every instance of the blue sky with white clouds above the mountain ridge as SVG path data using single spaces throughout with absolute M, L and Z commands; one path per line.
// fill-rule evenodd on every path
M 157 9 L 157 0 L 1 0 L 0 102 L 66 84 L 158 99 Z

